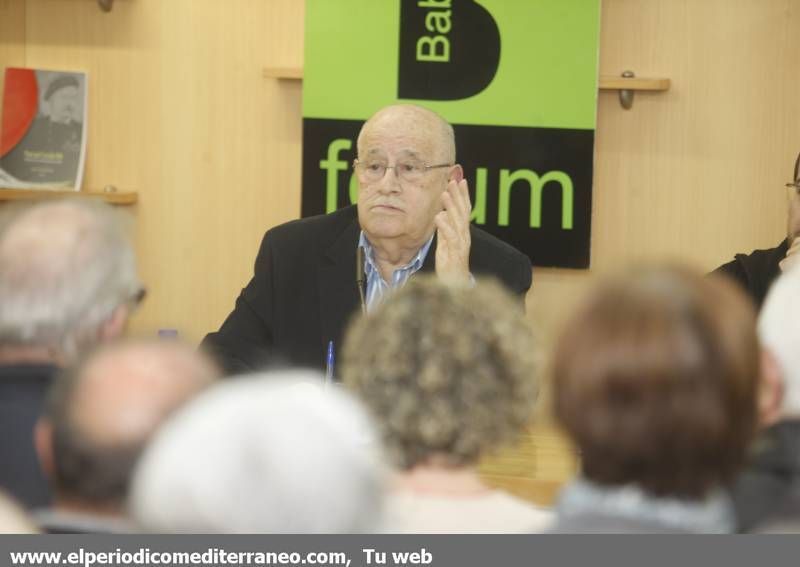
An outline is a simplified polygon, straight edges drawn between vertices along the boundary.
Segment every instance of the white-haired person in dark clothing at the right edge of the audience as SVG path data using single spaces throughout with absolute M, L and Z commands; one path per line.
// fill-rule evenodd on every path
M 772 286 L 758 320 L 765 430 L 735 485 L 739 528 L 800 531 L 800 267 Z

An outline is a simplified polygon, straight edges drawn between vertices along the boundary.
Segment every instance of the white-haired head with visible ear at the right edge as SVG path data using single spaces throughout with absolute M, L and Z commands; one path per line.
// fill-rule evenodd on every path
M 759 314 L 758 335 L 770 359 L 765 374 L 775 375 L 779 392 L 767 424 L 800 419 L 800 268 L 784 272 L 772 284 Z

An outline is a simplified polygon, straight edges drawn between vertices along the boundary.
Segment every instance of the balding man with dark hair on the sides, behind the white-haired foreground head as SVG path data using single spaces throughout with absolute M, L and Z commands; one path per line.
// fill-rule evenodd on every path
M 131 471 L 173 410 L 213 383 L 215 366 L 177 342 L 120 343 L 67 371 L 50 391 L 36 445 L 54 507 L 50 533 L 124 531 Z

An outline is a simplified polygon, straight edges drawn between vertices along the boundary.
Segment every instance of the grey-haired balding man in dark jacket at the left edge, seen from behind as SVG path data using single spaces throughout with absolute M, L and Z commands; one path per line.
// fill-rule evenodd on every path
M 0 486 L 49 500 L 33 427 L 56 369 L 122 334 L 141 300 L 133 248 L 101 203 L 50 201 L 0 223 Z

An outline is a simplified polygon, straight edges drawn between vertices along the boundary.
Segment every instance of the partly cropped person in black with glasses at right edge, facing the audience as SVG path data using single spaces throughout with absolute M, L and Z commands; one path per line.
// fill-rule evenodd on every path
M 786 188 L 789 200 L 786 239 L 775 248 L 736 254 L 732 261 L 714 270 L 736 280 L 758 308 L 781 272 L 800 263 L 800 155 L 794 162 L 794 176 Z

